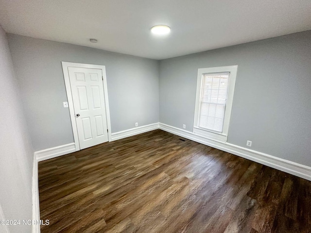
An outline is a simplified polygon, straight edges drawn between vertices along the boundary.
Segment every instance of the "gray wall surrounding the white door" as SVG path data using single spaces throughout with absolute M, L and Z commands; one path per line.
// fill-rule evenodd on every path
M 112 133 L 156 123 L 158 61 L 8 34 L 35 151 L 73 142 L 61 61 L 106 67 Z

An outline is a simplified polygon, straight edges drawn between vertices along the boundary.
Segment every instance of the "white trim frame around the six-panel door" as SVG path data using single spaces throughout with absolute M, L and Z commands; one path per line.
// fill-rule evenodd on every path
M 76 117 L 74 113 L 71 86 L 69 80 L 69 71 L 68 67 L 79 67 L 79 68 L 93 68 L 93 69 L 101 69 L 103 74 L 103 85 L 104 85 L 104 98 L 105 98 L 105 110 L 106 110 L 106 120 L 107 120 L 107 128 L 108 128 L 108 141 L 112 141 L 111 136 L 111 123 L 110 123 L 110 111 L 109 111 L 109 100 L 108 100 L 108 87 L 107 87 L 107 77 L 106 77 L 106 67 L 102 65 L 92 65 L 92 64 L 83 64 L 83 63 L 73 63 L 73 62 L 62 62 L 63 74 L 65 80 L 66 94 L 69 105 L 69 113 L 70 120 L 72 126 L 73 140 L 75 144 L 76 151 L 80 150 L 79 137 L 78 137 L 78 129 L 76 124 Z

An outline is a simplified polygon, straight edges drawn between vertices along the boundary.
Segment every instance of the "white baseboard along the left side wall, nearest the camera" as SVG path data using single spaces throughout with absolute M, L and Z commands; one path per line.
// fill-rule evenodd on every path
M 33 220 L 40 220 L 38 161 L 36 157 L 33 165 Z M 33 233 L 40 233 L 40 225 L 33 225 Z

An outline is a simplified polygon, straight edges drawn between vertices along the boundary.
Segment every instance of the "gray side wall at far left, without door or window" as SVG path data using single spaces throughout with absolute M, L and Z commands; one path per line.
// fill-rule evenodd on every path
M 5 219 L 32 219 L 34 151 L 29 141 L 8 41 L 1 27 L 0 83 L 0 211 L 2 209 Z M 10 233 L 30 233 L 32 226 L 8 228 Z M 0 232 L 5 232 L 3 226 L 0 226 Z

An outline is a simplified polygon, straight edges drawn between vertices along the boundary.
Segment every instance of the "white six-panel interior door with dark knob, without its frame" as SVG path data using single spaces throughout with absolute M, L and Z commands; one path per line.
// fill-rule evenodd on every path
M 68 67 L 80 149 L 108 141 L 101 69 Z

